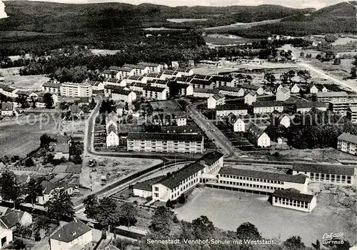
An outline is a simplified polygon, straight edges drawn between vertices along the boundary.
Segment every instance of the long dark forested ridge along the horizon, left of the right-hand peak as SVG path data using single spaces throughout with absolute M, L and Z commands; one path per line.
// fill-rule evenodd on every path
M 6 1 L 8 19 L 0 20 L 0 30 L 59 33 L 94 31 L 128 26 L 158 26 L 166 19 L 208 19 L 203 26 L 220 26 L 236 22 L 281 19 L 311 13 L 311 9 L 291 9 L 276 5 L 261 6 L 179 6 L 154 4 L 138 6 L 120 3 L 59 4 L 34 1 Z

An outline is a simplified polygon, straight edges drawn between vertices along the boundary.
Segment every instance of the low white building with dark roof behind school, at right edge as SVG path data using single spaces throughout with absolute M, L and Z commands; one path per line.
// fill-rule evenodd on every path
M 306 175 L 311 182 L 343 184 L 356 183 L 354 167 L 323 165 L 313 163 L 293 163 L 293 175 Z

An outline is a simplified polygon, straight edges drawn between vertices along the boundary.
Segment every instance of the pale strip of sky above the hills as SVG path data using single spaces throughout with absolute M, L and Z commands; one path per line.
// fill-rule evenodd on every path
M 33 0 L 29 0 L 33 1 Z M 44 0 L 36 0 L 44 1 Z M 46 0 L 56 1 L 66 4 L 86 4 L 86 3 L 104 3 L 121 2 L 126 4 L 161 4 L 167 6 L 231 6 L 231 5 L 260 5 L 260 4 L 278 4 L 292 8 L 315 8 L 321 9 L 325 6 L 338 4 L 343 0 Z

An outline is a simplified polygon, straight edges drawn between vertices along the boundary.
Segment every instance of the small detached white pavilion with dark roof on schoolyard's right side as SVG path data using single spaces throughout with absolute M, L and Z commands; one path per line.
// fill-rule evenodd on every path
M 316 207 L 316 197 L 311 194 L 302 194 L 297 189 L 275 190 L 271 195 L 271 204 L 275 207 L 295 209 L 309 212 Z

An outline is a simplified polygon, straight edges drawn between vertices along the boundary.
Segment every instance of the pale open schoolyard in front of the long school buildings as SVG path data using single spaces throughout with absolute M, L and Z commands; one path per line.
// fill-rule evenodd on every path
M 251 222 L 263 237 L 271 239 L 280 236 L 281 240 L 286 240 L 292 235 L 298 235 L 308 246 L 316 239 L 321 241 L 323 234 L 331 231 L 341 231 L 345 235 L 344 239 L 356 243 L 354 230 L 349 223 L 353 218 L 340 217 L 336 209 L 324 207 L 317 202 L 316 208 L 309 214 L 273 207 L 267 198 L 201 187 L 194 189 L 188 202 L 175 209 L 175 212 L 178 213 L 178 219 L 186 221 L 206 215 L 215 226 L 233 231 L 243 222 Z

